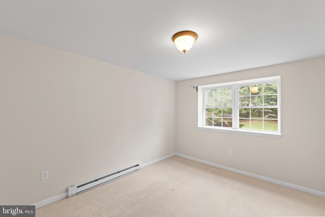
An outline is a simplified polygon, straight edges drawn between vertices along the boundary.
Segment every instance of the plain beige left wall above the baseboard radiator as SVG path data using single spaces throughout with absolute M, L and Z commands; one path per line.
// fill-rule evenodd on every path
M 0 204 L 175 152 L 176 82 L 5 35 L 0 61 Z

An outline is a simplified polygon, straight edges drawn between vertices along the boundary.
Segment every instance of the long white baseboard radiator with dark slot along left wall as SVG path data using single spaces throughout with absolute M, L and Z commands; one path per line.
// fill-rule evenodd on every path
M 132 173 L 132 172 L 135 172 L 135 171 L 141 170 L 141 169 L 142 169 L 142 165 L 136 164 L 131 167 L 127 167 L 125 169 L 119 170 L 117 172 L 105 174 L 105 175 L 102 175 L 99 177 L 89 179 L 87 181 L 83 181 L 83 182 L 74 184 L 74 185 L 68 187 L 68 197 L 72 197 L 76 194 L 79 194 L 86 190 L 92 189 L 100 184 L 103 184 L 105 182 L 111 181 L 113 179 L 119 178 L 121 176 L 127 175 L 129 173 Z

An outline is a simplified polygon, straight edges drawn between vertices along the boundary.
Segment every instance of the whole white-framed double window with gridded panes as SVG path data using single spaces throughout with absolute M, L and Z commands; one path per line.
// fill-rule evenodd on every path
M 280 137 L 280 76 L 198 87 L 199 129 Z

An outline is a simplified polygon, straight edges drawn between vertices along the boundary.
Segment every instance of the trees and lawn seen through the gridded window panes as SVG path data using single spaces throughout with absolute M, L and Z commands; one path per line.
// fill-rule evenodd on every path
M 203 104 L 204 126 L 278 131 L 278 82 L 207 88 Z

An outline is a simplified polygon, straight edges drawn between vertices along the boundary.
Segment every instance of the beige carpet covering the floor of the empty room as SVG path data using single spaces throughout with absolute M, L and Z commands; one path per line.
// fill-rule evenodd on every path
M 36 216 L 325 216 L 325 198 L 175 156 Z

